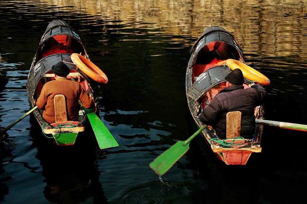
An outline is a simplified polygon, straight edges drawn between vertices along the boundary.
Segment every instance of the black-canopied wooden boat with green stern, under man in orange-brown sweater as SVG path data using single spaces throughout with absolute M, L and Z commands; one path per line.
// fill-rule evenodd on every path
M 31 108 L 36 106 L 36 100 L 41 93 L 43 85 L 48 81 L 55 80 L 51 67 L 59 61 L 67 62 L 66 65 L 71 70 L 67 78 L 80 83 L 96 103 L 98 83 L 72 63 L 70 56 L 73 53 L 78 53 L 88 59 L 87 52 L 77 32 L 65 21 L 52 20 L 41 38 L 29 70 L 26 87 Z M 66 105 L 63 108 L 60 104 L 62 102 L 55 103 L 55 108 L 60 108 L 55 111 L 56 115 L 62 117 L 64 114 L 64 119 L 59 117 L 59 122 L 47 123 L 42 117 L 42 111 L 38 109 L 33 111 L 34 117 L 42 127 L 45 136 L 52 138 L 57 145 L 73 145 L 76 139 L 85 131 L 88 118 L 84 109 L 81 108 L 77 121 L 67 121 L 67 117 L 65 121 Z M 60 113 L 61 109 L 65 109 L 65 111 L 63 110 L 64 113 Z

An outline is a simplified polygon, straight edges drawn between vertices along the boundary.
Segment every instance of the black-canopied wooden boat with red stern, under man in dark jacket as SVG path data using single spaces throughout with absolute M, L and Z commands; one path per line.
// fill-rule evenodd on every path
M 243 64 L 245 62 L 238 40 L 219 26 L 207 28 L 192 46 L 190 53 L 191 57 L 186 72 L 186 94 L 192 116 L 196 124 L 202 127 L 204 124 L 199 119 L 201 110 L 221 89 L 226 87 L 225 76 L 231 72 L 231 69 L 225 62 L 228 59 L 234 59 Z M 248 84 L 252 82 L 247 80 L 245 75 L 244 77 L 243 85 L 248 87 Z M 261 84 L 261 82 L 255 83 Z M 256 119 L 263 119 L 262 106 L 256 107 L 255 116 Z M 227 123 L 227 128 L 228 125 Z M 209 127 L 205 128 L 201 135 L 216 156 L 226 164 L 245 165 L 251 153 L 261 152 L 262 131 L 263 125 L 257 124 L 253 139 L 245 139 L 245 141 L 244 139 L 235 139 L 235 141 L 225 139 L 225 142 L 234 143 L 230 146 L 221 144 L 214 129 Z M 233 135 L 231 138 L 237 136 Z

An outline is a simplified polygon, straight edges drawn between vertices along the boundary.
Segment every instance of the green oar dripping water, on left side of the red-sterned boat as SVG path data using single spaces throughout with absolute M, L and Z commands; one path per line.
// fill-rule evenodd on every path
M 159 176 L 165 174 L 188 150 L 191 140 L 196 137 L 207 125 L 204 125 L 197 130 L 191 137 L 185 141 L 178 141 L 168 150 L 158 156 L 153 162 L 149 164 L 150 168 Z

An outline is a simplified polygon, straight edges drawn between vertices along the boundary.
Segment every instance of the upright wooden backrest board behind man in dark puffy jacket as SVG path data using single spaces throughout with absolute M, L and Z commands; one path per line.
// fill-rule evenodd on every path
M 226 139 L 241 136 L 241 112 L 233 111 L 226 114 Z

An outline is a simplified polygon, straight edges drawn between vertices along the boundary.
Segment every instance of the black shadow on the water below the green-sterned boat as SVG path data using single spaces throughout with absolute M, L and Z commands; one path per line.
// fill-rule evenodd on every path
M 45 198 L 52 203 L 80 203 L 88 198 L 107 202 L 99 181 L 101 172 L 96 162 L 93 131 L 88 130 L 74 145 L 57 146 L 43 135 L 33 115 L 30 124 L 30 138 L 37 148 L 36 158 L 45 177 Z

